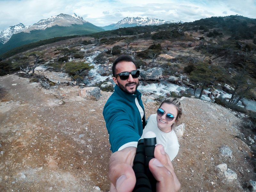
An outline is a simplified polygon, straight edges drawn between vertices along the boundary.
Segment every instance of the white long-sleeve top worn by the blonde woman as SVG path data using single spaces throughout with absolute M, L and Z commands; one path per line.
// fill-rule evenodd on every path
M 143 129 L 141 137 L 143 138 L 144 134 L 148 131 L 153 131 L 156 133 L 156 143 L 164 146 L 164 151 L 168 154 L 170 160 L 172 161 L 177 156 L 180 148 L 178 138 L 173 129 L 168 133 L 162 132 L 157 127 L 156 114 L 153 114 L 148 117 L 147 124 Z

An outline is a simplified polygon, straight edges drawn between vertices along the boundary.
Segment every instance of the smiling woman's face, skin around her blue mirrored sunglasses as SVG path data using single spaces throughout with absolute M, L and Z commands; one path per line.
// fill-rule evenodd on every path
M 159 116 L 158 114 L 156 115 L 157 127 L 162 132 L 168 133 L 172 131 L 172 124 L 176 121 L 176 118 L 174 118 L 172 121 L 167 121 L 166 114 L 171 113 L 174 117 L 177 117 L 178 110 L 175 105 L 169 103 L 163 103 L 161 105 L 161 109 L 163 109 L 165 113 L 163 116 Z

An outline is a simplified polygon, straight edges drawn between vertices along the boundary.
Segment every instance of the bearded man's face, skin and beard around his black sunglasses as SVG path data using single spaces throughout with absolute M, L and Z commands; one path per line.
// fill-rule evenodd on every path
M 131 72 L 136 70 L 136 67 L 133 62 L 121 61 L 116 65 L 116 74 L 122 72 Z M 139 85 L 139 78 L 133 78 L 130 74 L 129 78 L 126 80 L 121 80 L 119 76 L 113 77 L 113 81 L 117 86 L 126 93 L 134 94 Z

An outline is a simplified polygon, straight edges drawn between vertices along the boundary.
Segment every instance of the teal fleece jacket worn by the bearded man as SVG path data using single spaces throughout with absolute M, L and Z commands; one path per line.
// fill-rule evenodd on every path
M 136 97 L 144 111 L 139 91 L 136 91 L 134 95 L 128 94 L 116 85 L 114 93 L 104 106 L 103 116 L 108 129 L 110 149 L 113 153 L 125 143 L 138 141 L 142 135 L 145 127 L 145 111 L 142 123 L 135 103 Z

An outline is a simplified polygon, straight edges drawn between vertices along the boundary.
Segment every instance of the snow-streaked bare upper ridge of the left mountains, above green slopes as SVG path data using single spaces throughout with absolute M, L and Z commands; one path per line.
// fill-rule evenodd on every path
M 84 24 L 89 23 L 85 20 L 83 20 L 82 17 L 77 16 L 75 13 L 73 15 L 68 14 L 59 14 L 56 16 L 52 16 L 46 20 L 40 20 L 34 25 L 31 26 L 25 26 L 22 23 L 19 23 L 18 25 L 11 26 L 8 29 L 2 30 L 0 34 L 0 42 L 6 43 L 12 35 L 20 33 L 20 32 L 26 32 L 29 33 L 32 30 L 39 30 L 39 29 L 46 29 L 48 27 L 52 27 L 54 25 L 59 26 L 71 26 L 72 24 Z

